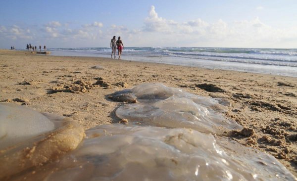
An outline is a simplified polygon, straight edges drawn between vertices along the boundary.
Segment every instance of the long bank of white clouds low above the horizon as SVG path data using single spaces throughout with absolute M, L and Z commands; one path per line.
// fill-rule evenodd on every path
M 143 25 L 134 29 L 119 24 L 104 29 L 98 21 L 82 25 L 51 21 L 34 29 L 26 25 L 0 25 L 0 45 L 5 39 L 6 43 L 46 40 L 65 47 L 108 46 L 112 36 L 121 36 L 127 46 L 294 47 L 297 41 L 297 25 L 276 28 L 259 17 L 233 22 L 222 19 L 206 22 L 200 18 L 177 22 L 160 17 L 154 6 L 150 7 Z

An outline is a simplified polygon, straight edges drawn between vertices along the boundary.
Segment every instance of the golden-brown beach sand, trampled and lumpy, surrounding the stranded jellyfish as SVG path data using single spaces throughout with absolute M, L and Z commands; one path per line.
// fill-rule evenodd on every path
M 297 176 L 297 78 L 101 57 L 0 50 L 0 101 L 69 117 L 85 130 L 118 123 L 108 95 L 142 83 L 231 101 L 245 129 L 229 138 L 268 152 Z

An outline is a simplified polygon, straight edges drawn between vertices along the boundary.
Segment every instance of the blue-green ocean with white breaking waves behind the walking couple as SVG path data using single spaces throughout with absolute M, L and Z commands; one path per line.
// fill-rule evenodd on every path
M 50 48 L 51 55 L 110 57 L 111 48 Z M 125 47 L 122 60 L 297 77 L 297 49 Z

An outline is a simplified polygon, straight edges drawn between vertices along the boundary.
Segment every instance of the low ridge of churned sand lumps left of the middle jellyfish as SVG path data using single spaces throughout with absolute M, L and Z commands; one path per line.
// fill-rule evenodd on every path
M 56 93 L 56 92 L 71 92 L 71 93 L 80 93 L 80 92 L 88 92 L 91 89 L 95 89 L 94 85 L 88 81 L 75 81 L 72 84 L 57 84 L 56 87 L 52 87 L 49 89 L 48 93 Z

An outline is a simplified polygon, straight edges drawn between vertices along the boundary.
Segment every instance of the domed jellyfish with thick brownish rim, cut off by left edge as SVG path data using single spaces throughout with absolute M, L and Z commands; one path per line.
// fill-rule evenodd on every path
M 0 103 L 0 180 L 57 160 L 83 137 L 83 128 L 73 121 Z

